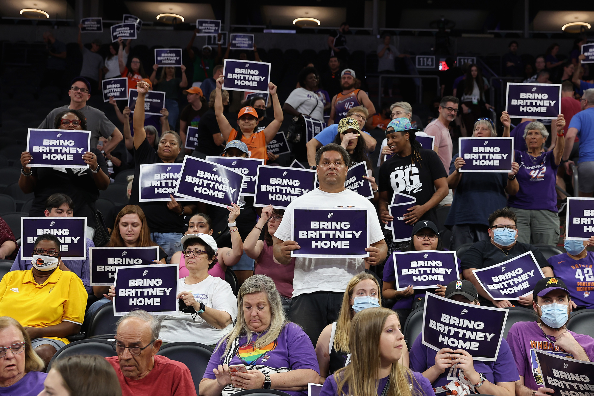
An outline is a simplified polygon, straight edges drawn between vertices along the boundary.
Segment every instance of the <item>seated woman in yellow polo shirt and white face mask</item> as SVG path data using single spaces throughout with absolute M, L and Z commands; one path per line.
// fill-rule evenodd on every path
M 16 319 L 31 337 L 46 366 L 52 356 L 78 334 L 87 306 L 83 281 L 62 263 L 60 242 L 39 236 L 27 271 L 10 271 L 0 281 L 0 316 Z

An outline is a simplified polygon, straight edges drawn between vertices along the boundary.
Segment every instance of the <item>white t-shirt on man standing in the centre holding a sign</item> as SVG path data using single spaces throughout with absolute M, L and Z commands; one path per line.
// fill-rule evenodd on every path
M 291 239 L 291 218 L 295 207 L 359 207 L 369 211 L 369 243 L 384 239 L 380 220 L 375 207 L 369 199 L 356 192 L 345 189 L 342 192 L 330 193 L 316 188 L 296 198 L 285 211 L 274 236 L 280 240 Z M 293 297 L 313 292 L 344 292 L 350 278 L 365 271 L 362 258 L 295 258 L 295 275 L 293 277 Z

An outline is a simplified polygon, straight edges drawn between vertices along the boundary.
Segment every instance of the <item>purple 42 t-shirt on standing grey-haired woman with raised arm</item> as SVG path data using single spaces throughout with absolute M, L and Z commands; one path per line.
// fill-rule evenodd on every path
M 520 164 L 517 180 L 520 190 L 510 195 L 507 204 L 512 208 L 550 210 L 557 213 L 557 167 L 552 151 L 532 157 L 527 151 L 514 150 L 514 159 Z

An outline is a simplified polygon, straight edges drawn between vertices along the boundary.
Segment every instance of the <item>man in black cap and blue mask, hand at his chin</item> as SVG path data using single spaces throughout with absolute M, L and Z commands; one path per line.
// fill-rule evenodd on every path
M 544 388 L 542 373 L 536 366 L 535 349 L 584 362 L 594 359 L 594 338 L 567 330 L 571 311 L 569 290 L 560 278 L 547 277 L 534 287 L 532 307 L 538 315 L 535 322 L 517 322 L 507 334 L 507 343 L 514 354 L 520 381 L 517 396 L 545 396 L 552 389 Z

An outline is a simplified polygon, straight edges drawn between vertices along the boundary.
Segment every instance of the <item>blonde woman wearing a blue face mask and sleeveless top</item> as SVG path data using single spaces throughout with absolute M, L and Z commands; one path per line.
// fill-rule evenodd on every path
M 320 384 L 324 384 L 328 375 L 350 363 L 349 331 L 355 313 L 378 306 L 381 306 L 381 299 L 377 279 L 365 272 L 355 275 L 346 287 L 337 321 L 324 328 L 315 346 L 320 364 Z M 408 367 L 406 344 L 402 352 L 400 363 Z

